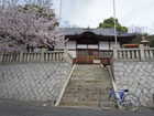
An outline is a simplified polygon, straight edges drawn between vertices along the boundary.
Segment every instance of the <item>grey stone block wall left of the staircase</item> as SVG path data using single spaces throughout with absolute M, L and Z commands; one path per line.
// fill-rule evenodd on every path
M 70 68 L 65 62 L 0 64 L 0 98 L 55 102 Z

